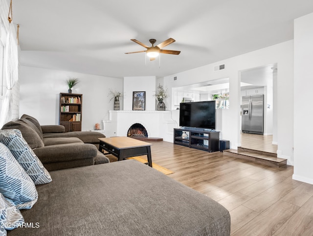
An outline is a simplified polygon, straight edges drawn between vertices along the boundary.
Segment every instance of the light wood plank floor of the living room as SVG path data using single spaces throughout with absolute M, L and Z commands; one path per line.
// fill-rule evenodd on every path
M 151 143 L 152 161 L 174 171 L 167 176 L 228 209 L 231 235 L 313 235 L 313 185 L 292 180 L 293 166 L 277 168 L 221 152 Z

